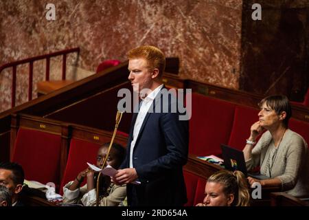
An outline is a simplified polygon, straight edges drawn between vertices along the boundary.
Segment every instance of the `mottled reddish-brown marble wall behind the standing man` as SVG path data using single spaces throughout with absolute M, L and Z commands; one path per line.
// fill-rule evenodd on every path
M 47 3 L 56 6 L 55 21 L 45 19 Z M 69 65 L 94 72 L 100 61 L 125 61 L 128 50 L 149 44 L 179 56 L 181 76 L 238 89 L 242 0 L 0 0 L 0 8 L 0 65 L 80 47 Z M 44 62 L 35 69 L 36 82 Z M 27 67 L 19 75 L 16 101 L 22 103 Z M 0 75 L 0 111 L 10 107 L 10 77 Z

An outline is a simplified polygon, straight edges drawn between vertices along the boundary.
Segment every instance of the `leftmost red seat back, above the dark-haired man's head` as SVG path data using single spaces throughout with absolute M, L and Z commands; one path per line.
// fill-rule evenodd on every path
M 60 149 L 60 135 L 20 128 L 12 161 L 23 166 L 25 179 L 59 186 Z

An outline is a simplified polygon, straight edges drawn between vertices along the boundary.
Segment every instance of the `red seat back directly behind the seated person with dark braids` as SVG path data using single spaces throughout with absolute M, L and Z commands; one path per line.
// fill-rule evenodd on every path
M 91 164 L 96 163 L 95 158 L 99 148 L 100 144 L 95 144 L 76 138 L 71 139 L 67 166 L 65 167 L 65 173 L 62 177 L 60 186 L 61 195 L 63 194 L 63 186 L 65 186 L 65 184 L 69 181 L 74 180 L 80 171 L 86 169 L 88 167 L 87 162 Z M 82 185 L 86 183 L 86 179 L 87 178 L 84 178 Z

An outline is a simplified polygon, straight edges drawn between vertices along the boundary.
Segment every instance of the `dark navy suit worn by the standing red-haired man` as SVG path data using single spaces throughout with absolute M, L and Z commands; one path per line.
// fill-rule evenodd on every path
M 187 162 L 189 124 L 179 120 L 178 111 L 171 112 L 176 98 L 170 97 L 163 103 L 162 97 L 168 92 L 161 91 L 150 106 L 154 113 L 146 114 L 134 146 L 133 167 L 141 184 L 127 184 L 129 206 L 183 206 L 187 202 L 182 168 Z M 155 112 L 156 106 L 159 113 Z M 169 111 L 164 113 L 163 109 Z M 134 113 L 122 168 L 129 167 L 136 118 Z

